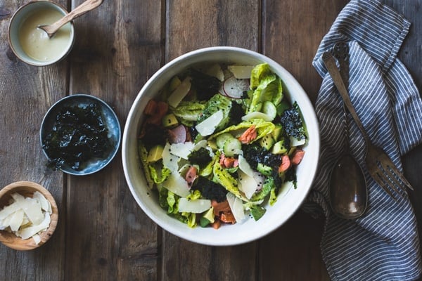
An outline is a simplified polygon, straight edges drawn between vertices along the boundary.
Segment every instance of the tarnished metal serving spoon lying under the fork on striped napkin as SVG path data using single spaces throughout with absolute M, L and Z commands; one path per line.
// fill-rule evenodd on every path
M 349 48 L 345 43 L 335 44 L 333 53 L 340 63 L 340 75 L 346 85 L 349 82 Z M 335 69 L 336 71 L 337 68 Z M 335 163 L 331 174 L 330 204 L 334 214 L 340 218 L 359 218 L 366 211 L 368 190 L 361 166 L 350 153 L 349 127 L 345 115 L 345 140 L 343 154 Z

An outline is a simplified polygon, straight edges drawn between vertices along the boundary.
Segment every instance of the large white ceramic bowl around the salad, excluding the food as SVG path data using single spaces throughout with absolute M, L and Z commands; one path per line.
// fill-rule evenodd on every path
M 298 102 L 309 133 L 309 143 L 304 150 L 304 159 L 298 166 L 298 188 L 291 188 L 278 197 L 274 206 L 267 207 L 267 212 L 255 221 L 248 218 L 244 223 L 223 225 L 218 230 L 213 228 L 189 228 L 166 214 L 158 204 L 158 199 L 149 190 L 141 169 L 137 151 L 137 135 L 143 122 L 143 109 L 148 100 L 162 89 L 175 74 L 186 70 L 190 65 L 205 62 L 226 62 L 243 65 L 268 63 L 271 70 L 281 77 L 283 91 L 290 100 Z M 281 65 L 266 56 L 234 47 L 203 48 L 181 55 L 156 72 L 143 86 L 127 117 L 122 138 L 122 162 L 124 175 L 134 199 L 141 209 L 160 227 L 168 232 L 192 242 L 214 246 L 228 246 L 257 240 L 283 225 L 293 216 L 305 200 L 311 188 L 319 157 L 319 126 L 314 107 L 298 81 Z

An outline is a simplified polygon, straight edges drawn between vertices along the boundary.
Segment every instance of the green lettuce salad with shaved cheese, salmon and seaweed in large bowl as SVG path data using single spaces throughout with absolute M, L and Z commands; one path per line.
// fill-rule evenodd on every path
M 306 126 L 267 63 L 189 67 L 143 114 L 148 184 L 167 214 L 192 228 L 258 221 L 296 186 Z

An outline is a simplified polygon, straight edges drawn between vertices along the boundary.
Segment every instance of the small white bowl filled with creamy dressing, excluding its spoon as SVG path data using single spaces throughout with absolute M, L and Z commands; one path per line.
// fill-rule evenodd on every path
M 8 26 L 8 41 L 13 53 L 29 65 L 45 66 L 57 63 L 68 55 L 75 42 L 75 29 L 72 22 L 63 25 L 57 34 L 50 39 L 44 31 L 37 29 L 37 25 L 51 24 L 56 21 L 46 20 L 45 14 L 39 15 L 46 13 L 46 11 L 50 13 L 58 12 L 63 16 L 68 14 L 65 8 L 54 2 L 31 1 L 15 11 Z M 39 19 L 41 19 L 41 22 L 37 22 Z M 30 28 L 30 32 L 27 28 Z M 27 36 L 25 37 L 23 34 L 27 34 Z M 22 41 L 24 38 L 35 39 L 36 41 L 27 41 L 25 44 Z M 39 41 L 41 43 L 38 43 Z M 38 45 L 37 47 L 37 44 L 45 45 Z M 44 50 L 46 53 L 35 50 Z

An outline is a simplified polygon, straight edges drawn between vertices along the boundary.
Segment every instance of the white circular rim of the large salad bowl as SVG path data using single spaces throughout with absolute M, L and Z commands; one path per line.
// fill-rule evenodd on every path
M 189 231 L 188 226 L 186 226 L 186 231 L 184 231 L 184 230 L 174 229 L 172 227 L 172 222 L 169 223 L 167 220 L 162 221 L 162 218 L 160 218 L 160 216 L 158 216 L 157 214 L 154 214 L 153 211 L 148 209 L 146 204 L 143 203 L 143 200 L 141 200 L 139 194 L 136 192 L 135 187 L 132 183 L 132 178 L 129 174 L 129 167 L 127 166 L 127 159 L 129 158 L 129 155 L 127 155 L 127 153 L 128 153 L 127 150 L 128 150 L 128 146 L 129 146 L 129 144 L 128 144 L 128 138 L 129 138 L 128 128 L 134 123 L 133 117 L 136 114 L 136 111 L 139 110 L 136 107 L 137 107 L 137 105 L 139 105 L 140 100 L 143 98 L 142 93 L 144 93 L 147 89 L 149 89 L 151 87 L 151 84 L 155 83 L 155 80 L 158 77 L 160 77 L 160 75 L 169 71 L 169 69 L 171 67 L 173 67 L 174 65 L 178 65 L 179 63 L 181 63 L 181 61 L 185 60 L 186 58 L 191 57 L 191 56 L 202 55 L 203 53 L 219 53 L 219 52 L 233 52 L 233 53 L 240 52 L 243 55 L 250 55 L 251 57 L 255 58 L 256 60 L 261 60 L 262 62 L 267 62 L 270 65 L 276 66 L 277 70 L 283 72 L 282 73 L 283 77 L 287 77 L 291 83 L 295 84 L 295 87 L 297 87 L 298 89 L 300 89 L 300 91 L 302 91 L 302 93 L 304 93 L 304 95 L 300 96 L 300 98 L 301 98 L 300 103 L 302 103 L 302 105 L 306 105 L 309 108 L 312 108 L 312 112 L 308 112 L 308 115 L 312 116 L 310 118 L 312 118 L 311 120 L 313 122 L 312 122 L 312 124 L 307 123 L 307 126 L 309 126 L 309 125 L 314 126 L 313 142 L 314 142 L 314 148 L 316 150 L 314 152 L 316 159 L 312 160 L 312 163 L 314 163 L 314 166 L 313 166 L 314 169 L 313 169 L 313 171 L 310 171 L 310 173 L 309 173 L 309 178 L 310 178 L 309 187 L 307 187 L 306 192 L 301 193 L 302 196 L 300 196 L 298 203 L 295 204 L 295 210 L 290 212 L 290 214 L 288 216 L 286 216 L 286 218 L 283 221 L 281 221 L 279 223 L 274 223 L 274 225 L 268 226 L 269 229 L 267 231 L 260 233 L 259 235 L 241 237 L 241 239 L 239 239 L 239 240 L 229 240 L 229 241 L 217 241 L 217 240 L 210 241 L 210 240 L 203 239 L 202 237 L 195 237 L 195 235 L 193 235 L 191 233 L 191 231 Z M 233 47 L 233 46 L 214 46 L 214 47 L 200 48 L 200 49 L 197 49 L 197 50 L 194 50 L 194 51 L 190 51 L 188 53 L 184 53 L 184 54 L 180 55 L 177 58 L 174 58 L 173 60 L 170 60 L 169 63 L 166 63 L 164 66 L 160 67 L 160 69 L 157 72 L 155 72 L 155 74 L 153 74 L 153 76 L 150 79 L 148 79 L 148 81 L 146 81 L 146 84 L 144 84 L 143 87 L 141 88 L 141 90 L 139 91 L 138 95 L 136 96 L 136 98 L 134 100 L 134 103 L 132 104 L 131 109 L 129 110 L 129 114 L 127 115 L 127 121 L 126 121 L 126 124 L 124 126 L 124 132 L 123 132 L 123 138 L 122 138 L 122 164 L 123 164 L 124 176 L 126 178 L 127 185 L 129 186 L 129 190 L 132 192 L 132 196 L 136 200 L 136 203 L 139 205 L 139 207 L 141 207 L 143 212 L 149 218 L 151 218 L 151 220 L 153 220 L 156 224 L 158 224 L 158 226 L 160 226 L 164 230 L 167 230 L 169 233 L 172 233 L 173 235 L 181 237 L 184 240 L 196 242 L 198 244 L 205 244 L 205 245 L 210 245 L 210 246 L 231 246 L 231 245 L 244 244 L 246 242 L 251 242 L 253 240 L 257 240 L 257 239 L 260 239 L 261 237 L 268 235 L 269 233 L 273 232 L 274 230 L 279 228 L 281 225 L 286 223 L 286 221 L 288 221 L 288 219 L 291 216 L 293 216 L 293 214 L 295 214 L 296 211 L 298 211 L 298 209 L 300 208 L 300 205 L 305 201 L 307 195 L 309 194 L 309 191 L 312 188 L 312 182 L 314 181 L 314 178 L 316 176 L 316 169 L 317 169 L 317 165 L 318 165 L 319 149 L 320 149 L 319 124 L 317 122 L 314 107 L 313 107 L 311 101 L 309 100 L 309 96 L 307 96 L 307 93 L 305 92 L 305 90 L 302 88 L 302 86 L 299 84 L 299 82 L 295 79 L 295 77 L 293 77 L 293 75 L 290 74 L 290 72 L 288 72 L 286 69 L 284 69 L 284 67 L 282 67 L 279 63 L 276 63 L 275 60 L 272 60 L 271 58 L 267 57 L 266 55 L 262 55 L 261 53 L 257 53 L 255 51 L 250 51 L 250 50 L 245 49 L 245 48 L 239 48 L 239 47 Z M 166 216 L 167 216 L 167 214 L 166 214 Z M 174 218 L 172 218 L 172 219 L 174 220 Z M 174 223 L 175 222 L 176 221 L 174 221 Z

